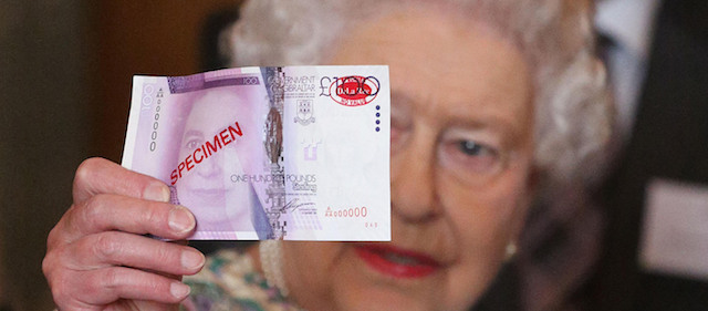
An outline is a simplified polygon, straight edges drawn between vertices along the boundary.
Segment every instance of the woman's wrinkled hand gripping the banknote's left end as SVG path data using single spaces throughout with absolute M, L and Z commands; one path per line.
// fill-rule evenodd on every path
M 59 310 L 176 310 L 180 276 L 205 258 L 186 239 L 195 218 L 162 182 L 101 158 L 76 170 L 73 204 L 49 235 L 42 269 Z

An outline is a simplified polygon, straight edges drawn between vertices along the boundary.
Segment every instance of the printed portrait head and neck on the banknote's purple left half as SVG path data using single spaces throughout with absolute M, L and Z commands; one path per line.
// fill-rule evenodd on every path
M 258 227 L 267 235 L 268 221 L 257 217 L 264 214 L 253 186 L 233 178 L 262 165 L 259 105 L 249 105 L 233 86 L 195 93 L 191 103 L 183 103 L 188 114 L 178 142 L 179 162 L 170 173 L 175 203 L 199 210 L 198 227 L 216 231 Z

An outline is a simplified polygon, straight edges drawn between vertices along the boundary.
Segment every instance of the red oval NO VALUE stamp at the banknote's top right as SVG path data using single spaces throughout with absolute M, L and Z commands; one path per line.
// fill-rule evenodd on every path
M 330 97 L 344 106 L 363 106 L 376 99 L 378 87 L 374 76 L 343 76 L 330 85 Z

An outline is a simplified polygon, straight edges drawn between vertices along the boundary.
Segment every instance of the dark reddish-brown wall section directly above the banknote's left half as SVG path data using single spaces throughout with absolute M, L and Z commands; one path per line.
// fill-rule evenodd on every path
M 210 14 L 237 0 L 96 1 L 93 154 L 121 160 L 135 74 L 186 75 L 200 71 L 199 43 Z

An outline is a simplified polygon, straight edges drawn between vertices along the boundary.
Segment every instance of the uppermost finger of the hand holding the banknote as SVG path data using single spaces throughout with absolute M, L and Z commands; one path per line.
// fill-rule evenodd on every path
M 159 179 L 132 172 L 104 158 L 88 158 L 76 169 L 74 203 L 83 203 L 100 194 L 156 201 L 169 200 L 169 188 Z

